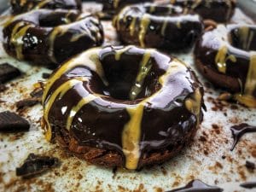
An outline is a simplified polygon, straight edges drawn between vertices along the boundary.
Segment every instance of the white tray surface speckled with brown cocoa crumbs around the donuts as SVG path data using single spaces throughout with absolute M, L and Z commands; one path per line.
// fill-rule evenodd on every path
M 87 7 L 88 9 L 88 7 Z M 110 22 L 103 22 L 107 44 L 116 44 L 116 34 Z M 194 68 L 191 53 L 176 54 L 177 58 Z M 7 84 L 9 90 L 0 93 L 0 112 L 15 111 L 15 102 L 27 98 L 33 84 L 42 79 L 42 73 L 49 69 L 16 61 L 5 54 L 0 46 L 0 63 L 9 62 L 20 68 L 24 75 Z M 197 72 L 196 72 L 197 73 Z M 198 74 L 198 73 L 197 73 Z M 202 84 L 206 80 L 201 79 Z M 207 87 L 209 84 L 207 84 Z M 0 191 L 165 191 L 181 187 L 191 179 L 218 185 L 225 192 L 253 191 L 239 187 L 240 183 L 256 181 L 255 172 L 248 172 L 246 160 L 256 162 L 256 134 L 241 138 L 234 151 L 230 126 L 246 122 L 256 125 L 256 109 L 240 105 L 222 103 L 216 108 L 219 90 L 210 85 L 206 88 L 207 112 L 196 134 L 195 141 L 172 160 L 160 166 L 143 169 L 141 172 L 128 172 L 104 169 L 88 165 L 86 162 L 67 154 L 58 145 L 47 143 L 39 125 L 42 107 L 27 108 L 22 116 L 31 122 L 30 131 L 25 134 L 0 134 Z M 218 125 L 218 130 L 212 125 Z M 206 141 L 205 141 L 206 140 Z M 18 167 L 30 153 L 45 154 L 60 158 L 61 166 L 41 176 L 22 180 L 15 176 Z

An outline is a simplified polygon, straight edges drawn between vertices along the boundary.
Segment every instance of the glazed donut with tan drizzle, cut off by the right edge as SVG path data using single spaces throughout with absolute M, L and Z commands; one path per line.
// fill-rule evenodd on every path
M 212 84 L 256 108 L 256 26 L 219 25 L 195 44 L 195 65 Z

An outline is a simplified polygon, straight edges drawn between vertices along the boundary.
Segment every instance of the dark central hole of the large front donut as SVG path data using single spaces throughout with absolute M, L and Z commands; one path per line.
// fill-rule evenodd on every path
M 124 53 L 116 60 L 110 54 L 103 58 L 102 67 L 108 85 L 102 87 L 102 94 L 117 100 L 141 100 L 160 90 L 160 75 L 164 73 L 150 57 L 142 67 L 143 55 Z M 138 77 L 143 77 L 138 80 Z

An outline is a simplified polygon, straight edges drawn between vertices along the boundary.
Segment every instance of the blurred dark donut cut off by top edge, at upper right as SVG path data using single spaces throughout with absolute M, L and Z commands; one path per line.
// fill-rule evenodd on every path
M 204 20 L 216 22 L 228 22 L 236 8 L 236 0 L 170 0 L 170 2 L 188 11 L 194 11 Z

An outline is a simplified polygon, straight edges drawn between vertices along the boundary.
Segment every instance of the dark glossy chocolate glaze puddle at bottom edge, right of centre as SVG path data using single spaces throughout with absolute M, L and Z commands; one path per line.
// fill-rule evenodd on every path
M 207 185 L 200 180 L 192 180 L 186 186 L 166 192 L 222 192 L 223 189 Z

